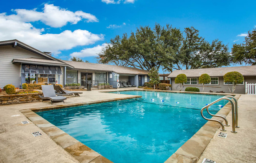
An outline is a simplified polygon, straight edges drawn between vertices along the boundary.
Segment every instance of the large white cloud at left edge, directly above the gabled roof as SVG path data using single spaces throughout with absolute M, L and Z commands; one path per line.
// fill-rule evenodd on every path
M 42 34 L 44 29 L 38 29 L 30 23 L 20 22 L 7 18 L 5 13 L 0 14 L 0 40 L 17 39 L 40 51 L 49 51 L 59 54 L 62 50 L 76 46 L 90 45 L 104 39 L 103 34 L 93 34 L 86 30 L 63 31 L 58 34 Z

